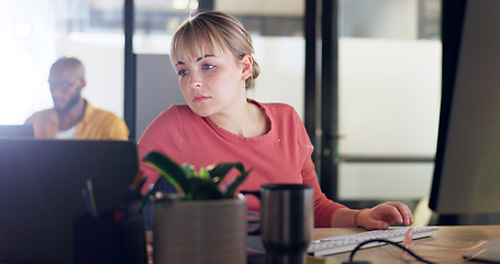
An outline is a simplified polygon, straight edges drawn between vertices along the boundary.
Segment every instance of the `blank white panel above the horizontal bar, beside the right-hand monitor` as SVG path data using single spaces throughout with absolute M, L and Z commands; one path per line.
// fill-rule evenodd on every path
M 433 156 L 441 42 L 344 37 L 338 57 L 341 153 Z

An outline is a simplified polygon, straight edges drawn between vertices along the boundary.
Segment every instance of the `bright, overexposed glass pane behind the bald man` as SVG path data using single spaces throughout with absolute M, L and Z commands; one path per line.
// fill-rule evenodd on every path
M 0 1 L 0 124 L 52 108 L 48 70 L 60 56 L 86 67 L 82 96 L 123 117 L 123 0 Z

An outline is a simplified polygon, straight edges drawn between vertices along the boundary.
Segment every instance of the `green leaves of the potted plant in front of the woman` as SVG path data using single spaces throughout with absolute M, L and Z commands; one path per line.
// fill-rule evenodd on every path
M 187 164 L 178 165 L 158 152 L 151 152 L 144 157 L 144 161 L 152 164 L 168 182 L 177 187 L 185 200 L 233 198 L 237 187 L 252 172 L 252 169 L 245 170 L 242 163 L 221 163 L 211 168 L 200 168 L 197 173 L 193 166 Z M 232 168 L 236 168 L 240 172 L 240 176 L 224 188 L 220 188 L 220 183 L 223 182 L 225 175 Z

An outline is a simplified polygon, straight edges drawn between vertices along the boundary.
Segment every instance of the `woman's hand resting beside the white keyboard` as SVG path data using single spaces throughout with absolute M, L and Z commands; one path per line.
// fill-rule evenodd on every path
M 388 229 L 390 224 L 399 222 L 404 226 L 413 223 L 410 208 L 402 202 L 386 201 L 357 213 L 355 223 L 367 230 Z

